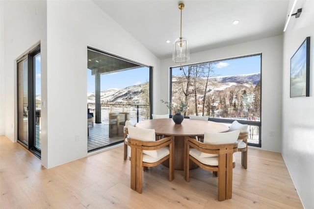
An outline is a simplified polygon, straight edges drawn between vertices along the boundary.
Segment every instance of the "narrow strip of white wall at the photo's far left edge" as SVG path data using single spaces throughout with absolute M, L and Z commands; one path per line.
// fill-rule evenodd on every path
M 0 135 L 4 135 L 4 7 L 0 0 Z

